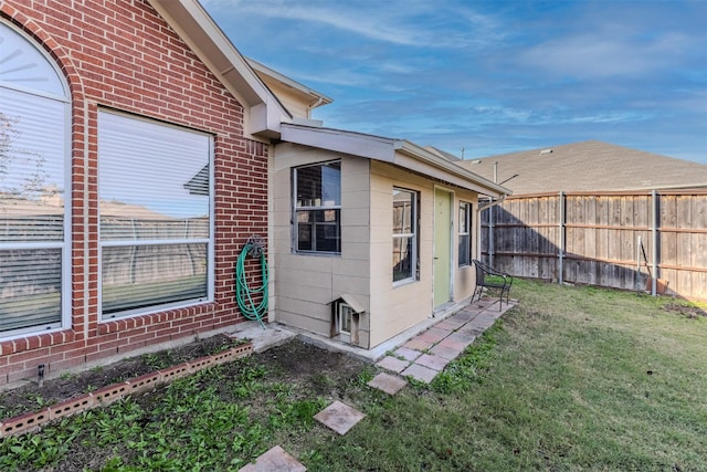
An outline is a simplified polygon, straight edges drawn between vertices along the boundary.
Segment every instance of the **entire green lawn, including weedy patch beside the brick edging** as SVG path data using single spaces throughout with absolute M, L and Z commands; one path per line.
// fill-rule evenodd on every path
M 527 281 L 511 297 L 430 386 L 388 397 L 371 366 L 283 381 L 253 356 L 4 440 L 0 470 L 235 471 L 279 444 L 309 471 L 707 471 L 707 317 Z M 334 397 L 367 415 L 345 437 L 312 420 Z

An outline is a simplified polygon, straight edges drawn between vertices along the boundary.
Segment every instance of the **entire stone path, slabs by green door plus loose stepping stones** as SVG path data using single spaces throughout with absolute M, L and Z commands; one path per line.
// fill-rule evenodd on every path
M 383 357 L 376 365 L 398 375 L 380 373 L 368 385 L 388 395 L 395 395 L 408 385 L 403 377 L 410 376 L 425 384 L 431 382 L 450 361 L 466 349 L 466 346 L 517 303 L 511 300 L 509 304 L 503 304 L 498 310 L 498 300 L 482 298 L 467 305 Z M 365 417 L 366 415 L 357 409 L 340 401 L 334 401 L 314 418 L 342 436 Z M 239 472 L 302 472 L 306 470 L 283 448 L 276 445 Z

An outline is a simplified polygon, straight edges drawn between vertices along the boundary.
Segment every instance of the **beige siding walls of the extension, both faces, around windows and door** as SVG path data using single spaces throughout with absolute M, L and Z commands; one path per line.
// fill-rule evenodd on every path
M 292 167 L 341 159 L 341 255 L 292 251 Z M 365 158 L 281 144 L 272 160 L 271 304 L 274 318 L 328 336 L 329 302 L 348 293 L 366 307 L 359 346 L 372 348 L 426 319 L 433 312 L 433 244 L 435 182 L 394 166 Z M 420 280 L 393 286 L 392 189 L 420 192 Z M 477 195 L 453 192 L 453 297 L 472 295 L 473 265 L 457 260 L 458 203 L 473 204 L 472 256 L 476 254 Z

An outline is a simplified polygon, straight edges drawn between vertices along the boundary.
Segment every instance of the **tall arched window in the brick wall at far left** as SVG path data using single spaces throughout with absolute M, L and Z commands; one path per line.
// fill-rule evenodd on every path
M 70 317 L 66 86 L 44 52 L 0 22 L 0 338 Z

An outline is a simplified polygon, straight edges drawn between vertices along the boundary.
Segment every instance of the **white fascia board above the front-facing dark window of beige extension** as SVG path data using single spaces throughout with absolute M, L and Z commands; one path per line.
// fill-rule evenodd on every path
M 287 143 L 367 157 L 384 162 L 392 162 L 395 158 L 395 141 L 389 138 L 284 123 L 281 125 L 281 132 L 282 140 Z

